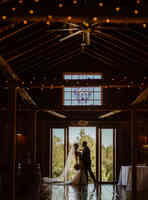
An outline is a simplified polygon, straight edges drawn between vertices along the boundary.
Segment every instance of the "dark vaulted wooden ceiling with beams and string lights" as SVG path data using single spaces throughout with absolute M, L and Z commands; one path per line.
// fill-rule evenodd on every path
M 49 99 L 53 93 L 46 89 L 43 94 L 41 87 L 62 85 L 64 71 L 102 72 L 107 74 L 105 85 L 114 80 L 117 88 L 138 83 L 136 95 L 147 87 L 148 4 L 143 0 L 93 2 L 1 1 L 0 56 L 17 81 L 26 84 L 25 91 L 30 83 L 38 85 L 27 92 L 40 108 L 47 107 L 46 100 L 40 101 L 41 95 Z M 10 74 L 2 66 L 0 96 L 4 104 L 4 84 Z

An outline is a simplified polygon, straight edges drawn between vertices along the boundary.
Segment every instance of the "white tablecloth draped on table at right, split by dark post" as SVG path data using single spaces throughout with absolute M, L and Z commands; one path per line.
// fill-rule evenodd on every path
M 148 166 L 137 166 L 137 191 L 148 190 Z M 121 166 L 118 185 L 126 186 L 127 191 L 132 190 L 132 167 Z

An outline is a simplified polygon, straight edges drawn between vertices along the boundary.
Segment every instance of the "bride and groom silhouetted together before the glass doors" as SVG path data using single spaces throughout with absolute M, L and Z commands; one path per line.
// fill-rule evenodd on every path
M 71 180 L 67 181 L 71 171 L 71 164 L 73 163 L 73 155 L 75 156 L 75 174 Z M 88 184 L 88 173 L 96 185 L 96 179 L 91 169 L 90 149 L 87 146 L 87 142 L 83 141 L 82 150 L 79 149 L 78 143 L 75 143 L 70 149 L 63 172 L 55 178 L 43 177 L 43 183 L 86 185 Z

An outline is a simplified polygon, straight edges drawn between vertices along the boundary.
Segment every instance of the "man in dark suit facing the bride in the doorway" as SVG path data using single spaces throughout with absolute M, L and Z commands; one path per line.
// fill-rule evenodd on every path
M 83 141 L 82 146 L 83 146 L 83 150 L 82 150 L 82 157 L 81 157 L 81 159 L 82 159 L 82 161 L 84 163 L 84 170 L 85 170 L 85 174 L 86 174 L 86 177 L 87 177 L 87 183 L 88 183 L 88 172 L 89 172 L 90 177 L 94 181 L 94 184 L 96 184 L 97 182 L 96 182 L 94 173 L 92 172 L 92 169 L 91 169 L 90 149 L 87 146 L 87 142 L 86 141 Z

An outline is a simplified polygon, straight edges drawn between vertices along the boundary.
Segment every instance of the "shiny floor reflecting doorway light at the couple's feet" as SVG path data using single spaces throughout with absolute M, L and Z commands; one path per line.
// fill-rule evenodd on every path
M 49 184 L 39 190 L 34 187 L 29 192 L 24 188 L 21 194 L 16 195 L 16 200 L 148 200 L 148 191 L 132 195 L 125 187 L 112 184 L 101 184 L 96 187 L 93 184 L 81 187 Z M 0 196 L 3 197 L 1 192 Z

